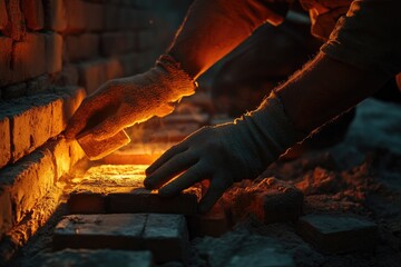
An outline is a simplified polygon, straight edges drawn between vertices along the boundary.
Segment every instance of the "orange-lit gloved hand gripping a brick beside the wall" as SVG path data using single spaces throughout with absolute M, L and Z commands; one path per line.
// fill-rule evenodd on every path
M 85 129 L 81 135 L 102 140 L 153 116 L 170 113 L 172 103 L 192 95 L 195 86 L 174 59 L 164 57 L 149 71 L 110 80 L 88 96 L 69 121 L 66 138 L 74 139 Z M 88 125 L 92 117 L 105 110 L 109 113 L 101 115 L 99 123 Z

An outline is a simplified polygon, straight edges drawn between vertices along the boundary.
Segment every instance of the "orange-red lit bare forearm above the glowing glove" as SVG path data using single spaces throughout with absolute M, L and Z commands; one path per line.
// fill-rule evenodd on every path
M 167 52 L 196 79 L 263 22 L 280 22 L 277 13 L 286 6 L 267 0 L 195 0 Z

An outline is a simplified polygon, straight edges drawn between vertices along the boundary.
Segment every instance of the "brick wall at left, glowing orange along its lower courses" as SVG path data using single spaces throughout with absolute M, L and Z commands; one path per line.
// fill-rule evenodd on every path
M 84 157 L 60 135 L 82 99 L 151 67 L 188 2 L 0 0 L 0 240 Z

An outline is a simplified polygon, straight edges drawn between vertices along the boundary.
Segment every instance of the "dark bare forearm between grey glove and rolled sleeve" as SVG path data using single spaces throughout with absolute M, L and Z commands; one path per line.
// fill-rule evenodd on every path
M 320 53 L 276 89 L 296 129 L 311 132 L 379 90 L 389 73 L 363 70 Z

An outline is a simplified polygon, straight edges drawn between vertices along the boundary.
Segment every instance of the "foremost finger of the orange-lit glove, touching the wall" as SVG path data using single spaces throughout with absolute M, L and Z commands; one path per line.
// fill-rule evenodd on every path
M 101 110 L 101 107 L 99 101 L 91 97 L 87 97 L 68 122 L 65 132 L 66 138 L 69 140 L 74 139 L 81 130 L 84 130 L 89 118 Z

